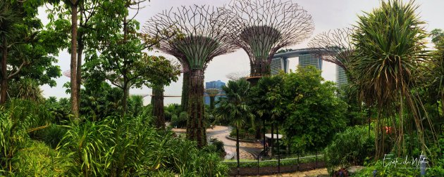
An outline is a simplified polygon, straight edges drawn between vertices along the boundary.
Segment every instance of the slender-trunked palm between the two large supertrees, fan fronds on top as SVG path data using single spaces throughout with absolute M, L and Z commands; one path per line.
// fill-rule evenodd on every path
M 236 158 L 238 160 L 239 175 L 239 129 L 249 119 L 252 121 L 254 116 L 248 105 L 247 99 L 249 93 L 249 82 L 245 79 L 238 81 L 228 81 L 228 86 L 223 86 L 226 97 L 218 100 L 216 115 L 222 119 L 228 119 L 236 127 Z

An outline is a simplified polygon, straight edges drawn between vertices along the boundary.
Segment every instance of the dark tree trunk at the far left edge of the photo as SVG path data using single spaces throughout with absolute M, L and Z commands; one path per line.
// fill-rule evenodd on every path
M 8 46 L 6 45 L 6 37 L 2 37 L 1 39 L 3 44 L 1 44 L 1 96 L 0 96 L 0 104 L 3 105 L 6 103 L 6 91 L 8 91 Z

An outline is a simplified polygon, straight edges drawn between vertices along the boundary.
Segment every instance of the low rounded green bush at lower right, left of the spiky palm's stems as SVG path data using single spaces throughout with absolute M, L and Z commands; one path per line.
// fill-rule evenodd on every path
M 328 172 L 333 173 L 337 167 L 364 165 L 364 159 L 375 153 L 374 142 L 374 132 L 369 135 L 368 126 L 351 126 L 336 133 L 325 149 Z

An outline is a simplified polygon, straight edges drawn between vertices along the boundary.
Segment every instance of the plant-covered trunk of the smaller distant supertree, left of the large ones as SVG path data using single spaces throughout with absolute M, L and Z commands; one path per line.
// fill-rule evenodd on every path
M 156 117 L 156 127 L 165 129 L 165 112 L 164 112 L 164 90 L 153 89 L 154 99 L 153 116 Z

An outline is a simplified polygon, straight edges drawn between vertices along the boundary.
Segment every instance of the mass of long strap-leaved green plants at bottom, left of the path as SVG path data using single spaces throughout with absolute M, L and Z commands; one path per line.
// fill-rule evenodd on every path
M 70 159 L 73 176 L 134 176 L 179 173 L 183 176 L 223 176 L 218 153 L 198 150 L 194 142 L 157 132 L 141 117 L 109 117 L 101 122 L 66 126 L 59 147 Z

